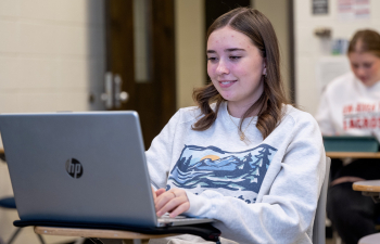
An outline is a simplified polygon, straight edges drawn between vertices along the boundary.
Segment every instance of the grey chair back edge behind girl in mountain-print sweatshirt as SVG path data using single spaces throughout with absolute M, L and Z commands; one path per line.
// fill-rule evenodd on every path
M 329 187 L 330 164 L 331 158 L 326 157 L 326 175 L 314 218 L 313 244 L 326 244 L 326 200 L 327 189 Z

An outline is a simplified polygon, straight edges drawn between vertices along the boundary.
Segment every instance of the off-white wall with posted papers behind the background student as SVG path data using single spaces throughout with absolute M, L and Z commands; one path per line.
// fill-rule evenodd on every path
M 296 103 L 306 112 L 316 113 L 322 87 L 317 80 L 317 65 L 327 54 L 322 41 L 314 35 L 316 28 L 328 27 L 332 30 L 331 39 L 350 39 L 360 28 L 373 28 L 380 31 L 380 1 L 370 0 L 370 18 L 340 21 L 337 14 L 337 0 L 329 1 L 328 15 L 313 15 L 312 1 L 294 0 L 295 28 L 295 88 Z M 332 59 L 345 60 L 345 56 Z M 325 80 L 328 82 L 328 80 Z

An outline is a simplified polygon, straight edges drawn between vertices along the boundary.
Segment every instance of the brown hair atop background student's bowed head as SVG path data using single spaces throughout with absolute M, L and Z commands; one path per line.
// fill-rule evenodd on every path
M 350 41 L 347 54 L 352 52 L 370 52 L 380 57 L 380 35 L 371 29 L 358 30 Z

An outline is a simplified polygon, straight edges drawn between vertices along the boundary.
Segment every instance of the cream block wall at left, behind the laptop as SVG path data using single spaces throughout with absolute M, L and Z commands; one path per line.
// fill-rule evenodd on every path
M 0 113 L 101 110 L 102 11 L 102 0 L 0 0 Z M 12 189 L 7 165 L 0 162 L 0 197 L 5 195 Z M 4 241 L 15 219 L 15 211 L 0 209 Z M 38 240 L 26 228 L 17 243 Z

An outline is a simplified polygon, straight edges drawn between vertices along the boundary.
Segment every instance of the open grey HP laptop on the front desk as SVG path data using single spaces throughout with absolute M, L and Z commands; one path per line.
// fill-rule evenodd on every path
M 157 218 L 137 112 L 0 114 L 21 220 L 166 227 Z

